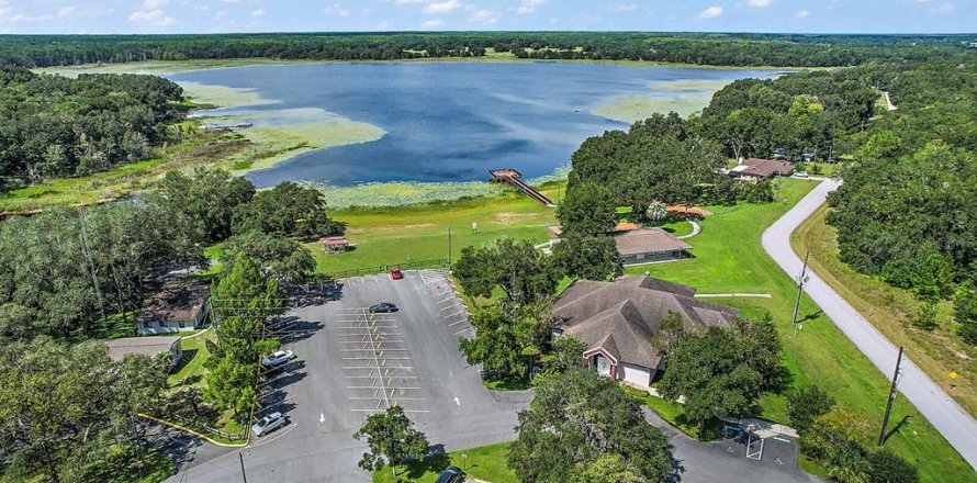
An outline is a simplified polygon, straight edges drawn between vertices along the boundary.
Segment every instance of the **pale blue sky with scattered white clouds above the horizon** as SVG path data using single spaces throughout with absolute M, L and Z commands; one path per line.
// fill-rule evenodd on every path
M 0 0 L 0 33 L 975 33 L 977 0 Z

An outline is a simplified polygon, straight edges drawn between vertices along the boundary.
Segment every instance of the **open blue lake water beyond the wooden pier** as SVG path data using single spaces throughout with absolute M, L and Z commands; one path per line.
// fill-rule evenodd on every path
M 319 108 L 386 131 L 375 142 L 302 154 L 247 176 L 267 187 L 283 180 L 335 186 L 484 180 L 488 169 L 507 167 L 529 178 L 549 175 L 568 165 L 585 138 L 628 127 L 591 114 L 615 99 L 696 93 L 655 90 L 661 82 L 773 75 L 570 63 L 391 63 L 255 66 L 168 77 L 254 88 L 280 101 L 248 108 L 251 112 Z

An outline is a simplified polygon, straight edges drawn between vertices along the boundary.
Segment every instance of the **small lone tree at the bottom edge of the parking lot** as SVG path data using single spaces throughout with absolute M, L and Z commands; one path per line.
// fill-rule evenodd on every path
M 394 476 L 397 464 L 424 458 L 428 447 L 427 437 L 414 429 L 414 423 L 401 406 L 391 406 L 383 414 L 370 415 L 352 437 L 366 438 L 370 447 L 360 459 L 360 468 L 380 471 L 390 465 Z

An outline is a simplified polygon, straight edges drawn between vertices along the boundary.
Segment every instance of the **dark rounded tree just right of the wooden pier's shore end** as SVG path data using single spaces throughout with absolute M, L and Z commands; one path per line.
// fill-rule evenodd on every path
M 557 218 L 565 234 L 608 234 L 617 225 L 617 202 L 614 193 L 602 184 L 577 183 L 566 190 L 566 196 L 557 207 Z

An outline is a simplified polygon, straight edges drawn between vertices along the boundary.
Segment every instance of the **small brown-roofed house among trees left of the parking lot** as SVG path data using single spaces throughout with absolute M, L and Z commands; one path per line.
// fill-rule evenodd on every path
M 141 335 L 195 330 L 207 315 L 210 285 L 201 281 L 167 283 L 143 302 L 136 315 Z

